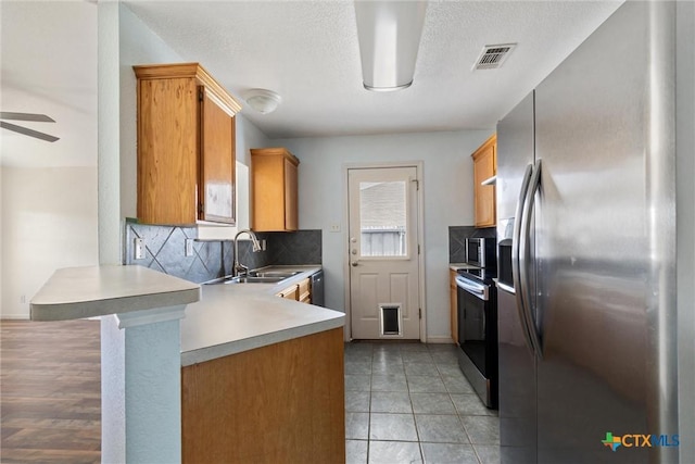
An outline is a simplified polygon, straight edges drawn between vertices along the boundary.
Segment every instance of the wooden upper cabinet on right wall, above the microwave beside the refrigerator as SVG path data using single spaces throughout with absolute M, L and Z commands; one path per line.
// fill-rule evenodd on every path
M 490 137 L 472 154 L 476 227 L 493 227 L 496 220 L 495 186 L 481 185 L 497 174 L 497 136 Z

